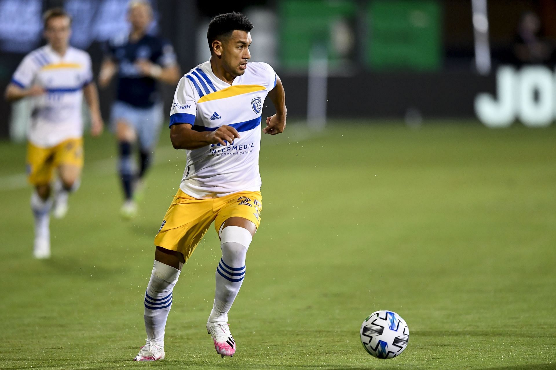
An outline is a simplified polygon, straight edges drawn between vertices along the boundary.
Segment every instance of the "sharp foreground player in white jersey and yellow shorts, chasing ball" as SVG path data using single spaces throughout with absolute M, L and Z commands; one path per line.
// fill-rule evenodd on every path
M 266 96 L 276 114 L 262 132 L 286 126 L 285 93 L 266 63 L 249 62 L 252 24 L 241 13 L 212 19 L 207 32 L 209 61 L 191 69 L 178 83 L 170 115 L 170 138 L 187 150 L 180 188 L 155 238 L 155 263 L 145 292 L 147 343 L 136 361 L 164 358 L 166 319 L 172 289 L 211 223 L 220 237 L 214 306 L 207 331 L 216 352 L 233 356 L 236 343 L 228 312 L 245 277 L 245 256 L 260 223 L 259 149 Z M 248 63 L 249 62 L 249 63 Z

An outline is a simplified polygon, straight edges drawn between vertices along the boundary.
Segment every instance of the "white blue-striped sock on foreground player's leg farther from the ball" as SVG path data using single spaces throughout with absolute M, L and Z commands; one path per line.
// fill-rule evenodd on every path
M 164 328 L 172 307 L 172 290 L 180 270 L 158 262 L 152 267 L 151 279 L 145 292 L 145 330 L 147 341 L 164 347 Z

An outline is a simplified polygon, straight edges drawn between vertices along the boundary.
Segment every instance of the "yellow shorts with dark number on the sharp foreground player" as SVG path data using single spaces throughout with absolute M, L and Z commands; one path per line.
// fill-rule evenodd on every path
M 155 245 L 183 254 L 187 261 L 214 221 L 216 232 L 230 217 L 243 217 L 259 228 L 262 196 L 260 192 L 239 192 L 214 199 L 197 199 L 178 189 Z

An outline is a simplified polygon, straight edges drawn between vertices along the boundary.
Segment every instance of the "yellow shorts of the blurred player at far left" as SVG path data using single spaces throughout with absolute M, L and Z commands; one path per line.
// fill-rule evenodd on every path
M 50 148 L 27 143 L 27 176 L 34 186 L 48 184 L 54 168 L 62 164 L 83 168 L 82 138 L 67 139 Z

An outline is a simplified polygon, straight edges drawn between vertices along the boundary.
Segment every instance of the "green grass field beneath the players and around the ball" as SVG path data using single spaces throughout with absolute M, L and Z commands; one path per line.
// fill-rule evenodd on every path
M 556 369 L 556 125 L 290 124 L 264 136 L 264 210 L 230 313 L 239 346 L 205 331 L 214 229 L 174 290 L 166 360 L 135 363 L 153 237 L 185 152 L 163 132 L 140 216 L 120 219 L 115 143 L 86 138 L 81 189 L 32 258 L 23 144 L 0 144 L 2 369 Z M 410 339 L 379 360 L 359 327 L 398 312 Z

